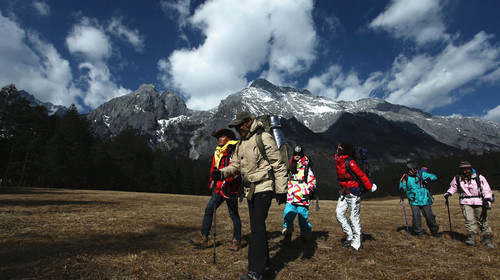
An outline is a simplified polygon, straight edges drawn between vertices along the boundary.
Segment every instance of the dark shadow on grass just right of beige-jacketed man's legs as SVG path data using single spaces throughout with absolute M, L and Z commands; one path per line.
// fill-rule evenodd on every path
M 280 232 L 273 232 L 271 236 L 280 235 Z M 269 248 L 269 251 L 279 250 L 271 258 L 271 269 L 265 273 L 265 279 L 275 279 L 276 272 L 281 271 L 285 265 L 294 260 L 310 259 L 316 253 L 318 248 L 316 240 L 318 239 L 328 239 L 328 232 L 326 231 L 313 231 L 311 232 L 311 240 L 305 241 L 302 237 L 296 237 L 288 245 L 281 245 L 279 242 L 273 247 Z

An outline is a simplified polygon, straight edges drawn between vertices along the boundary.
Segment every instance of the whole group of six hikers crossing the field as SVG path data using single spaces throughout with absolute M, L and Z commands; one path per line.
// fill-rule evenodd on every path
M 208 247 L 216 209 L 226 202 L 233 221 L 233 238 L 228 250 L 238 251 L 241 248 L 238 197 L 240 202 L 246 197 L 250 218 L 248 271 L 240 279 L 262 279 L 262 274 L 270 268 L 266 219 L 273 197 L 278 205 L 285 204 L 281 231 L 283 238 L 280 243 L 285 246 L 291 243 L 297 216 L 300 236 L 307 242 L 311 239 L 312 225 L 308 216 L 310 200 L 314 199 L 316 193 L 316 177 L 312 161 L 304 154 L 301 146 L 296 146 L 288 159 L 279 119 L 269 119 L 269 116 L 256 118 L 243 111 L 232 118 L 229 128 L 234 128 L 240 139 L 236 140 L 234 132 L 226 128 L 212 134 L 218 141 L 208 183 L 212 196 L 205 208 L 200 234 L 188 242 L 196 247 Z M 364 160 L 363 153 L 366 154 L 366 151 L 356 149 L 352 143 L 341 142 L 334 155 L 339 183 L 336 218 L 345 234 L 343 245 L 354 252 L 363 249 L 360 219 L 362 194 L 377 190 L 377 185 L 369 176 L 369 165 Z M 408 198 L 412 210 L 413 234 L 421 237 L 424 233 L 422 214 L 432 236 L 440 237 L 439 225 L 431 207 L 433 199 L 426 188 L 429 181 L 437 180 L 437 176 L 428 173 L 426 168 L 419 168 L 414 160 L 409 160 L 406 167 L 407 172 L 399 182 L 405 219 L 403 195 Z M 476 245 L 481 237 L 481 244 L 494 248 L 493 231 L 487 222 L 487 210 L 491 209 L 494 201 L 491 188 L 486 178 L 477 174 L 470 163 L 461 162 L 459 169 L 459 174 L 453 178 L 450 188 L 444 194 L 446 205 L 448 206 L 449 196 L 460 193 L 459 201 L 468 232 L 465 243 Z M 348 210 L 349 217 L 346 216 Z M 410 236 L 408 222 L 406 227 Z M 214 263 L 215 231 L 214 228 Z

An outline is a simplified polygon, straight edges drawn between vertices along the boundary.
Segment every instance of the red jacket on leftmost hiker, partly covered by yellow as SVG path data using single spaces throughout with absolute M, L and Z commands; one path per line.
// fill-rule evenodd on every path
M 212 166 L 210 167 L 210 174 L 212 174 L 212 171 L 214 169 L 221 169 L 223 167 L 228 166 L 231 164 L 231 158 L 233 156 L 234 149 L 236 147 L 236 144 L 229 144 L 227 145 L 227 148 L 222 151 L 222 157 L 219 162 L 219 166 L 216 165 L 216 156 L 214 153 L 214 156 L 212 157 Z M 217 189 L 216 193 L 220 193 L 224 198 L 229 198 L 230 196 L 236 196 L 238 194 L 238 191 L 240 189 L 241 185 L 241 176 L 235 175 L 233 177 L 229 177 L 223 181 L 217 181 Z M 208 180 L 208 189 L 212 190 L 212 178 Z M 222 192 L 221 192 L 222 191 Z

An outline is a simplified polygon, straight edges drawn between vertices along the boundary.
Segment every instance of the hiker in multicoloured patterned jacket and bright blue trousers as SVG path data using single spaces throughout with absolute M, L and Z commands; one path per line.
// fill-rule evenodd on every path
M 290 159 L 288 169 L 288 193 L 285 211 L 283 212 L 282 244 L 288 245 L 292 239 L 293 221 L 299 216 L 299 227 L 302 238 L 311 239 L 312 226 L 309 223 L 309 200 L 316 191 L 311 161 L 304 155 L 302 147 L 296 146 Z

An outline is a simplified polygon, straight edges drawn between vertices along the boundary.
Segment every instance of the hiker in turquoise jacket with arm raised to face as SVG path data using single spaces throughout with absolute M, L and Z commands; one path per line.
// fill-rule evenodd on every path
M 426 171 L 419 170 L 416 161 L 409 160 L 406 163 L 407 172 L 399 181 L 400 192 L 406 193 L 412 212 L 412 229 L 414 234 L 422 237 L 424 229 L 422 228 L 422 216 L 427 222 L 432 236 L 441 237 L 439 225 L 436 222 L 436 216 L 432 213 L 432 197 L 426 188 L 428 181 L 437 180 L 437 176 Z

